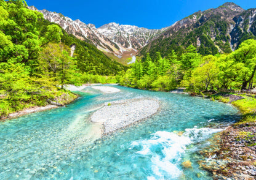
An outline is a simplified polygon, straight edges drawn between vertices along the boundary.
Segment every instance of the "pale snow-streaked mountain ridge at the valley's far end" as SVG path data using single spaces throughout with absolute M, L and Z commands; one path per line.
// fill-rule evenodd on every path
M 38 10 L 36 7 L 29 7 Z M 127 54 L 136 54 L 154 37 L 157 37 L 163 29 L 146 29 L 137 26 L 119 25 L 109 23 L 95 28 L 94 24 L 85 24 L 80 20 L 71 20 L 61 13 L 50 12 L 46 9 L 38 10 L 43 13 L 44 18 L 62 26 L 68 34 L 73 34 L 78 39 L 94 44 L 99 50 L 105 53 L 113 53 L 118 58 Z

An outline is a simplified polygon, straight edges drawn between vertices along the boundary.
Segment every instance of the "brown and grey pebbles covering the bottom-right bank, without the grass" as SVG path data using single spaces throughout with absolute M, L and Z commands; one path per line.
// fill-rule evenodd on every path
M 244 132 L 250 136 L 244 135 Z M 206 170 L 218 172 L 214 174 L 214 179 L 255 179 L 256 176 L 256 151 L 255 146 L 249 146 L 256 142 L 256 124 L 242 126 L 240 128 L 228 127 L 222 132 L 222 143 L 217 143 L 218 151 L 214 154 L 218 156 L 204 162 L 201 161 L 201 167 Z M 254 136 L 252 136 L 254 135 Z M 207 157 L 209 149 L 201 151 Z M 217 163 L 215 163 L 217 162 Z M 223 168 L 224 167 L 224 168 Z M 228 174 L 226 170 L 228 167 Z

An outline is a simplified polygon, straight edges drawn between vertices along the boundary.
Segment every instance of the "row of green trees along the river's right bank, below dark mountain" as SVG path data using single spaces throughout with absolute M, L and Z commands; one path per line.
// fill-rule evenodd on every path
M 146 54 L 119 80 L 123 86 L 157 91 L 185 87 L 190 92 L 216 92 L 220 89 L 251 89 L 255 82 L 256 40 L 241 43 L 230 54 L 202 56 L 193 45 L 180 56 L 172 53 L 152 58 Z

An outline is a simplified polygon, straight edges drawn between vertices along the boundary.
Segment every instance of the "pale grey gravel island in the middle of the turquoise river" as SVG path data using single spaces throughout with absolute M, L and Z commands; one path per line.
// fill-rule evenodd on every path
M 127 127 L 134 122 L 157 113 L 159 102 L 155 99 L 130 99 L 105 103 L 90 117 L 92 122 L 103 124 L 103 134 Z

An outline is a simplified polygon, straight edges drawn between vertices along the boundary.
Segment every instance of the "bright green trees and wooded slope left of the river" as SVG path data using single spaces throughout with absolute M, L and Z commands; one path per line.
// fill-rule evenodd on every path
M 73 57 L 71 45 L 76 46 Z M 25 1 L 0 0 L 0 116 L 50 101 L 71 102 L 76 95 L 63 90 L 63 84 L 116 83 L 100 75 L 123 69 L 93 45 L 28 9 Z

